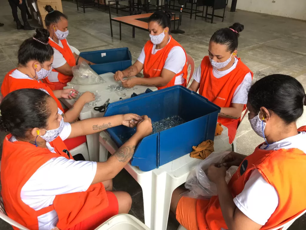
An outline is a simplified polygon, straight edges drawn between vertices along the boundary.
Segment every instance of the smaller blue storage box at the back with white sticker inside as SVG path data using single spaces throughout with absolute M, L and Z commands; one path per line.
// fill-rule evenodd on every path
M 127 47 L 81 52 L 80 56 L 92 63 L 96 63 L 90 67 L 97 74 L 115 73 L 132 65 L 132 55 Z

